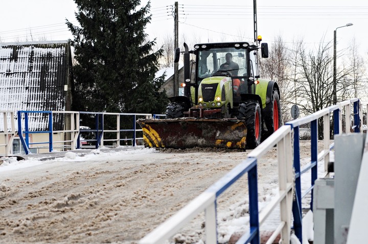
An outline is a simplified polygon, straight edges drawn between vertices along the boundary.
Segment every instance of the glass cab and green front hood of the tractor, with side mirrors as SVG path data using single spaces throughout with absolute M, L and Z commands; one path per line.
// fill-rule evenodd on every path
M 192 105 L 221 109 L 225 117 L 231 116 L 246 94 L 256 93 L 257 49 L 248 42 L 202 43 L 194 45 L 193 51 L 186 46 L 184 66 L 189 66 L 186 54 L 196 57 L 194 81 L 185 75 L 184 93 Z M 263 48 L 262 54 L 264 51 L 268 52 Z

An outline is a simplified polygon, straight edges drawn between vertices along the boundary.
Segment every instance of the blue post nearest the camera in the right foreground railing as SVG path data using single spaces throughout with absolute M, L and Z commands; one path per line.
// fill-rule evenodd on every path
M 248 172 L 248 188 L 249 188 L 249 225 L 250 231 L 256 231 L 256 236 L 251 244 L 260 243 L 259 234 L 259 217 L 258 217 L 258 183 L 257 183 L 257 164 Z

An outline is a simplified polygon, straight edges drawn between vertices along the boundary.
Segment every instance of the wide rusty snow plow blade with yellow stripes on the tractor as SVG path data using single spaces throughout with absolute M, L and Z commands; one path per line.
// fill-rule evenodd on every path
M 145 147 L 245 149 L 243 120 L 217 118 L 139 119 Z

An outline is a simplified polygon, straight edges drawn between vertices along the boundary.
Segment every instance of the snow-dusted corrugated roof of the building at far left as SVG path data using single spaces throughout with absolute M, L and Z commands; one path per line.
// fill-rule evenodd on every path
M 65 110 L 69 60 L 67 41 L 0 43 L 0 110 Z M 58 120 L 55 130 L 63 127 Z M 46 119 L 30 118 L 29 130 L 47 128 Z

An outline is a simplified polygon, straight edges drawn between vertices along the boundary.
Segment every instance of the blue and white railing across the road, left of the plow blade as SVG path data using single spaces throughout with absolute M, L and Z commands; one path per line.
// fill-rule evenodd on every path
M 47 130 L 30 130 L 29 129 L 29 114 L 47 114 L 47 118 L 43 119 L 43 123 L 48 125 Z M 94 120 L 95 124 L 92 128 L 84 128 L 80 126 L 80 116 L 81 114 L 89 114 Z M 18 111 L 18 130 L 19 139 L 21 141 L 22 147 L 24 148 L 26 154 L 30 153 L 30 145 L 35 144 L 47 144 L 46 146 L 33 147 L 36 149 L 48 148 L 49 152 L 52 152 L 55 147 L 58 148 L 70 148 L 72 150 L 80 148 L 99 148 L 99 147 L 119 147 L 121 141 L 131 141 L 131 145 L 134 147 L 136 145 L 136 140 L 143 139 L 142 137 L 137 137 L 137 132 L 142 132 L 142 129 L 137 129 L 136 120 L 137 117 L 151 118 L 152 114 L 147 113 L 102 113 L 102 112 L 76 112 L 76 111 Z M 63 130 L 54 130 L 53 121 L 55 116 L 63 116 L 65 121 Z M 113 124 L 116 125 L 114 128 L 105 128 L 104 123 L 106 116 L 113 117 Z M 24 119 L 22 119 L 24 118 Z M 131 127 L 127 129 L 121 129 L 122 118 L 125 120 L 130 120 Z M 111 121 L 111 120 L 110 120 Z M 14 123 L 14 120 L 13 120 Z M 24 123 L 24 125 L 22 125 Z M 139 128 L 139 127 L 138 127 Z M 129 132 L 131 137 L 121 138 L 121 133 Z M 47 133 L 49 134 L 49 139 L 47 141 L 36 141 L 30 142 L 29 137 L 31 134 Z M 63 133 L 64 140 L 55 140 L 54 134 Z M 95 145 L 81 146 L 80 135 L 83 133 L 93 133 L 94 139 L 82 139 L 86 142 L 93 142 Z M 114 137 L 104 139 L 104 135 L 112 133 Z M 23 136 L 25 135 L 25 136 Z M 108 142 L 113 142 L 113 144 L 105 144 Z M 127 144 L 127 143 L 126 143 Z

